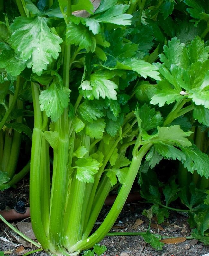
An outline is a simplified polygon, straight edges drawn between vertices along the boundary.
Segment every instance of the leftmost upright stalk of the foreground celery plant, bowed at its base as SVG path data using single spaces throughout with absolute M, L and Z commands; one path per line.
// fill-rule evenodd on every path
M 49 151 L 46 147 L 43 147 L 46 143 L 42 132 L 46 129 L 47 118 L 45 113 L 41 113 L 39 105 L 39 88 L 31 82 L 33 106 L 34 106 L 34 129 L 32 135 L 32 148 L 31 148 L 31 166 L 30 166 L 30 214 L 33 231 L 37 240 L 41 243 L 42 247 L 51 252 L 55 251 L 55 247 L 48 239 L 49 225 L 49 209 L 43 212 L 42 207 L 48 208 L 50 190 L 50 179 L 49 175 L 43 174 L 49 172 L 44 166 L 45 159 L 48 159 Z M 45 167 L 48 167 L 47 165 Z M 46 180 L 41 181 L 43 176 L 47 177 Z M 47 222 L 47 223 L 44 223 Z

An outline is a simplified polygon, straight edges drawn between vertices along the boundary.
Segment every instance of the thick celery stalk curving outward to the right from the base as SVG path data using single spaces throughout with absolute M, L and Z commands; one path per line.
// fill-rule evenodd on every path
M 141 161 L 143 156 L 146 155 L 150 147 L 152 146 L 152 143 L 148 143 L 143 145 L 140 150 L 138 149 L 135 150 L 137 151 L 137 154 L 133 155 L 128 173 L 126 175 L 126 179 L 123 182 L 121 189 L 118 193 L 118 196 L 110 209 L 109 213 L 107 214 L 105 220 L 103 223 L 99 226 L 99 228 L 88 238 L 85 240 L 78 241 L 77 244 L 72 246 L 71 248 L 68 248 L 68 251 L 74 252 L 77 250 L 85 250 L 90 247 L 93 247 L 95 243 L 100 242 L 105 235 L 109 232 L 111 227 L 114 225 L 114 222 L 116 221 L 118 215 L 120 214 L 123 205 L 125 204 L 125 201 L 128 197 L 128 194 L 130 193 L 130 190 L 132 188 L 133 182 L 136 178 L 136 175 L 138 173 L 139 167 L 141 165 Z M 139 147 L 139 143 L 135 145 L 135 147 Z

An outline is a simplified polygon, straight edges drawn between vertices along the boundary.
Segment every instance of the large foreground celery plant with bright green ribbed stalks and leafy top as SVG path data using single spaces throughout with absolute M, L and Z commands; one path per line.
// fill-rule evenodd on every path
M 109 232 L 145 155 L 151 166 L 163 157 L 188 166 L 191 152 L 202 156 L 186 138 L 191 132 L 171 124 L 194 109 L 181 110 L 187 99 L 179 96 L 180 86 L 181 102 L 168 116 L 137 104 L 135 83 L 159 90 L 158 94 L 155 80 L 158 86 L 168 84 L 164 66 L 150 64 L 158 47 L 148 57 L 154 33 L 149 23 L 141 23 L 145 2 L 16 0 L 21 16 L 9 27 L 8 44 L 1 42 L 0 67 L 31 82 L 31 222 L 36 238 L 51 254 L 78 255 Z M 90 17 L 78 16 L 76 11 L 83 9 Z M 149 77 L 150 83 L 142 77 Z M 151 95 L 152 104 L 162 106 L 166 101 L 164 95 L 160 102 L 155 93 Z M 111 187 L 120 183 L 111 210 L 91 233 Z

